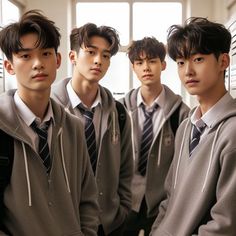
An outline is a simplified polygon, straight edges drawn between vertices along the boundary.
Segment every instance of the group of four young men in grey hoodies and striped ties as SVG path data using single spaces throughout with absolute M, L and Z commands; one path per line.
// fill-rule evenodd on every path
M 189 113 L 161 84 L 165 46 L 133 41 L 128 56 L 141 86 L 120 100 L 124 118 L 99 85 L 119 49 L 113 28 L 73 29 L 72 78 L 51 90 L 61 62 L 54 22 L 33 10 L 5 27 L 0 47 L 17 90 L 0 96 L 0 129 L 14 140 L 0 235 L 234 235 L 230 43 L 229 31 L 205 18 L 170 28 L 168 53 L 199 101 Z

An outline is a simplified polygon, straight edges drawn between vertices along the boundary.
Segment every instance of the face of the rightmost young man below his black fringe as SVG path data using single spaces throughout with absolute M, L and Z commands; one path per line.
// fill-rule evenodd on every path
M 214 54 L 195 54 L 189 59 L 176 60 L 179 77 L 192 95 L 199 97 L 222 94 L 224 70 L 229 65 L 229 56 L 224 53 L 218 58 Z

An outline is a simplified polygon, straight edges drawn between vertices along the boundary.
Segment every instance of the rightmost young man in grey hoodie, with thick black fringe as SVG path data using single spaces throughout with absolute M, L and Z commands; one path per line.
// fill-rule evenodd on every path
M 236 103 L 225 89 L 230 32 L 205 18 L 171 26 L 168 52 L 199 106 L 178 129 L 153 236 L 236 232 Z

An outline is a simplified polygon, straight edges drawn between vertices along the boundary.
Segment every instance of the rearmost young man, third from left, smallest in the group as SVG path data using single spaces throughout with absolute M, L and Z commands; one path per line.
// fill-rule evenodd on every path
M 122 99 L 132 119 L 135 153 L 133 204 L 125 236 L 137 236 L 141 229 L 149 235 L 165 197 L 164 180 L 173 157 L 175 131 L 189 111 L 180 96 L 161 84 L 165 55 L 164 44 L 154 37 L 133 41 L 128 49 L 141 86 Z

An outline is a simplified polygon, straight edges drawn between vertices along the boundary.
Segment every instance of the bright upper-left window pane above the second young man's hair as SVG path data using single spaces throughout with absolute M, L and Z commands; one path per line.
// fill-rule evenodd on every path
M 122 17 L 121 17 L 122 16 Z M 129 43 L 129 4 L 128 3 L 77 3 L 77 27 L 88 22 L 115 28 L 121 45 Z

